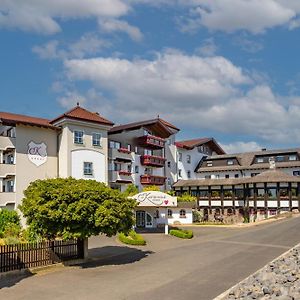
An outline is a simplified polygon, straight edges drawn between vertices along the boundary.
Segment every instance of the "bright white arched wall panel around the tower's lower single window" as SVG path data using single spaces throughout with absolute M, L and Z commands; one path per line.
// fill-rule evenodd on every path
M 71 174 L 76 179 L 95 179 L 100 182 L 106 182 L 106 158 L 103 153 L 83 149 L 73 150 L 71 152 Z M 93 175 L 83 174 L 83 163 L 93 163 Z

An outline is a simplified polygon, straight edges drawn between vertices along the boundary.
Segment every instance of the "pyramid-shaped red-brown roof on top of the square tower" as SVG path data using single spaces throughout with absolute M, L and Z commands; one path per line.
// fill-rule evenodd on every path
M 97 124 L 102 124 L 102 125 L 108 125 L 108 126 L 113 126 L 114 123 L 103 118 L 100 116 L 98 113 L 94 113 L 91 111 L 88 111 L 82 107 L 75 106 L 71 110 L 67 111 L 66 113 L 60 115 L 59 117 L 51 120 L 51 124 L 55 124 L 56 122 L 60 121 L 61 119 L 72 119 L 72 120 L 80 120 L 80 121 L 86 121 L 86 122 L 91 122 L 91 123 L 97 123 Z

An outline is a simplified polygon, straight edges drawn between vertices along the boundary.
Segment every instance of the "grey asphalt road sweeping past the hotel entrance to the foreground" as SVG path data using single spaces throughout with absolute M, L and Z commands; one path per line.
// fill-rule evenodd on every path
M 146 247 L 94 237 L 97 261 L 0 283 L 0 299 L 213 299 L 300 242 L 300 218 L 194 228 L 192 240 L 145 234 Z M 101 260 L 99 260 L 101 257 Z

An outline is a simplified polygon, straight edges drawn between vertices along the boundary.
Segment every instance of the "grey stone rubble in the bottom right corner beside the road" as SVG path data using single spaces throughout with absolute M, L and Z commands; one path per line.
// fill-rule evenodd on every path
M 224 300 L 300 300 L 300 246 L 229 291 Z

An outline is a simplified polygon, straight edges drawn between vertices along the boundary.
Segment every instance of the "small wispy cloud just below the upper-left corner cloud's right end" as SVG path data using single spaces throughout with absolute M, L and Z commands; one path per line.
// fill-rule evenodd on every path
M 126 21 L 116 20 L 116 19 L 99 19 L 99 26 L 104 32 L 125 32 L 129 37 L 139 42 L 143 39 L 143 34 L 140 29 L 128 24 Z

